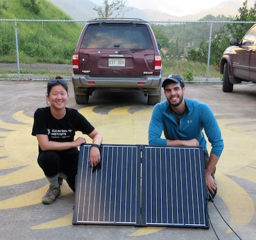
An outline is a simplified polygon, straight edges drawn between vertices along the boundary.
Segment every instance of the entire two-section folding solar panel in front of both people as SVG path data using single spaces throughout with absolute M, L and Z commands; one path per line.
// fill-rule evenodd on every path
M 202 148 L 102 145 L 101 169 L 82 145 L 73 224 L 209 228 Z

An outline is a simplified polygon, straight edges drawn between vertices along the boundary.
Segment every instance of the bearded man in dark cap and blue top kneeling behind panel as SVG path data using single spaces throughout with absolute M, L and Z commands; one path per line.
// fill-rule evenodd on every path
M 148 142 L 150 145 L 203 146 L 206 185 L 214 197 L 217 184 L 213 171 L 224 149 L 216 118 L 207 104 L 183 98 L 185 83 L 180 75 L 169 75 L 162 87 L 167 100 L 154 107 L 148 129 Z M 212 145 L 210 157 L 203 129 Z M 162 131 L 166 139 L 161 138 Z

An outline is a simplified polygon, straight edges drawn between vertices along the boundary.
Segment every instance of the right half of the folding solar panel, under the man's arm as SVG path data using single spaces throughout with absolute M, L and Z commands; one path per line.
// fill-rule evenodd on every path
M 209 228 L 204 172 L 200 147 L 145 146 L 142 225 Z

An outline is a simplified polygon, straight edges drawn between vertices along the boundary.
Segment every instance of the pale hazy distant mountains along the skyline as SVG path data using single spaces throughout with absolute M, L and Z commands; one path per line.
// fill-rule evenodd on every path
M 91 1 L 86 0 L 48 0 L 55 6 L 59 7 L 66 14 L 71 16 L 74 20 L 90 20 L 97 18 L 97 12 L 93 10 L 95 5 Z M 102 1 L 103 2 L 103 1 Z M 248 0 L 248 6 L 251 7 L 254 4 L 254 0 Z M 238 9 L 242 7 L 242 1 L 239 0 L 228 0 L 222 2 L 219 5 L 212 7 L 211 9 L 200 11 L 197 14 L 187 16 L 173 16 L 165 12 L 150 9 L 137 9 L 132 7 L 131 10 L 125 12 L 124 17 L 128 18 L 141 18 L 148 21 L 191 21 L 199 20 L 204 16 L 211 14 L 213 16 L 224 15 L 224 16 L 236 16 Z M 130 8 L 129 8 L 130 9 Z M 127 10 L 127 8 L 125 9 Z

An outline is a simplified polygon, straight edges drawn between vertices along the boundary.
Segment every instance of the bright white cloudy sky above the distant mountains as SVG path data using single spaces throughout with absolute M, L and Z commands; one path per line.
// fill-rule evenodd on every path
M 174 16 L 185 16 L 210 9 L 228 0 L 127 0 L 126 6 L 137 9 L 152 9 L 167 12 Z M 240 0 L 244 2 L 245 0 Z M 94 0 L 96 5 L 102 5 L 104 0 Z M 111 2 L 111 0 L 110 0 Z

